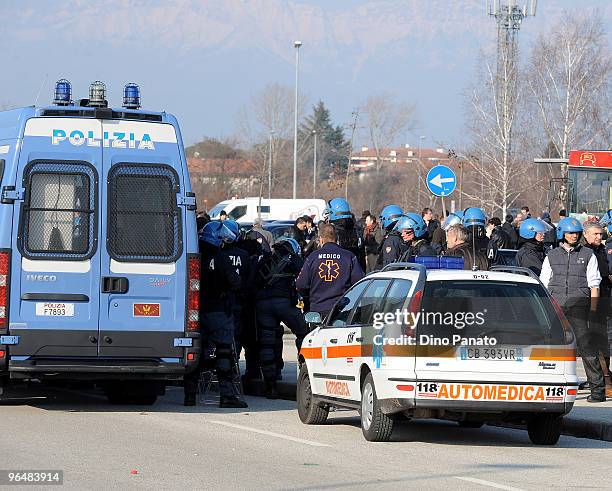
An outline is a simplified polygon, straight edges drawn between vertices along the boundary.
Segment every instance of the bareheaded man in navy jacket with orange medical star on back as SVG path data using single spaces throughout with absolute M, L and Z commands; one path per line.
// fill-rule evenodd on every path
M 304 298 L 304 310 L 319 312 L 323 319 L 336 301 L 363 278 L 357 256 L 336 244 L 336 240 L 334 227 L 319 226 L 321 247 L 308 256 L 296 282 Z

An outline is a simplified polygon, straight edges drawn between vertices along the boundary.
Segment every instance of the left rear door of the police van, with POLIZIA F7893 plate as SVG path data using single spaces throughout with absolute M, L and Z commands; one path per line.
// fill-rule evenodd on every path
M 13 212 L 11 365 L 97 356 L 101 128 L 76 118 L 25 125 L 15 182 L 23 201 Z

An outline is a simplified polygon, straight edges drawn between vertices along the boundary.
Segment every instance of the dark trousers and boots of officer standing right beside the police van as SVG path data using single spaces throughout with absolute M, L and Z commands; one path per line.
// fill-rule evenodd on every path
M 219 381 L 219 395 L 237 395 L 233 383 L 234 368 L 238 366 L 234 353 L 234 318 L 225 312 L 207 312 L 201 314 L 200 330 L 202 333 L 202 353 L 200 365 L 193 372 L 185 375 L 186 394 L 198 391 L 200 374 L 209 370 L 211 350 L 214 351 L 214 368 Z

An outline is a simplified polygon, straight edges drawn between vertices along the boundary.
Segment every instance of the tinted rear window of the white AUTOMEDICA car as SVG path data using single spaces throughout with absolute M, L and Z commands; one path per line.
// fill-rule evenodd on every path
M 488 336 L 497 344 L 564 344 L 561 321 L 540 284 L 428 281 L 421 307 L 428 316 L 418 324 L 419 335 Z

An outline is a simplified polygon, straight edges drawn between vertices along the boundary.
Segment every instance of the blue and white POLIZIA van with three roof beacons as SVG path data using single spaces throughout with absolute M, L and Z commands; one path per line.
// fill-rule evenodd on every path
M 72 102 L 0 112 L 0 377 L 152 404 L 199 358 L 196 202 L 176 118 Z

